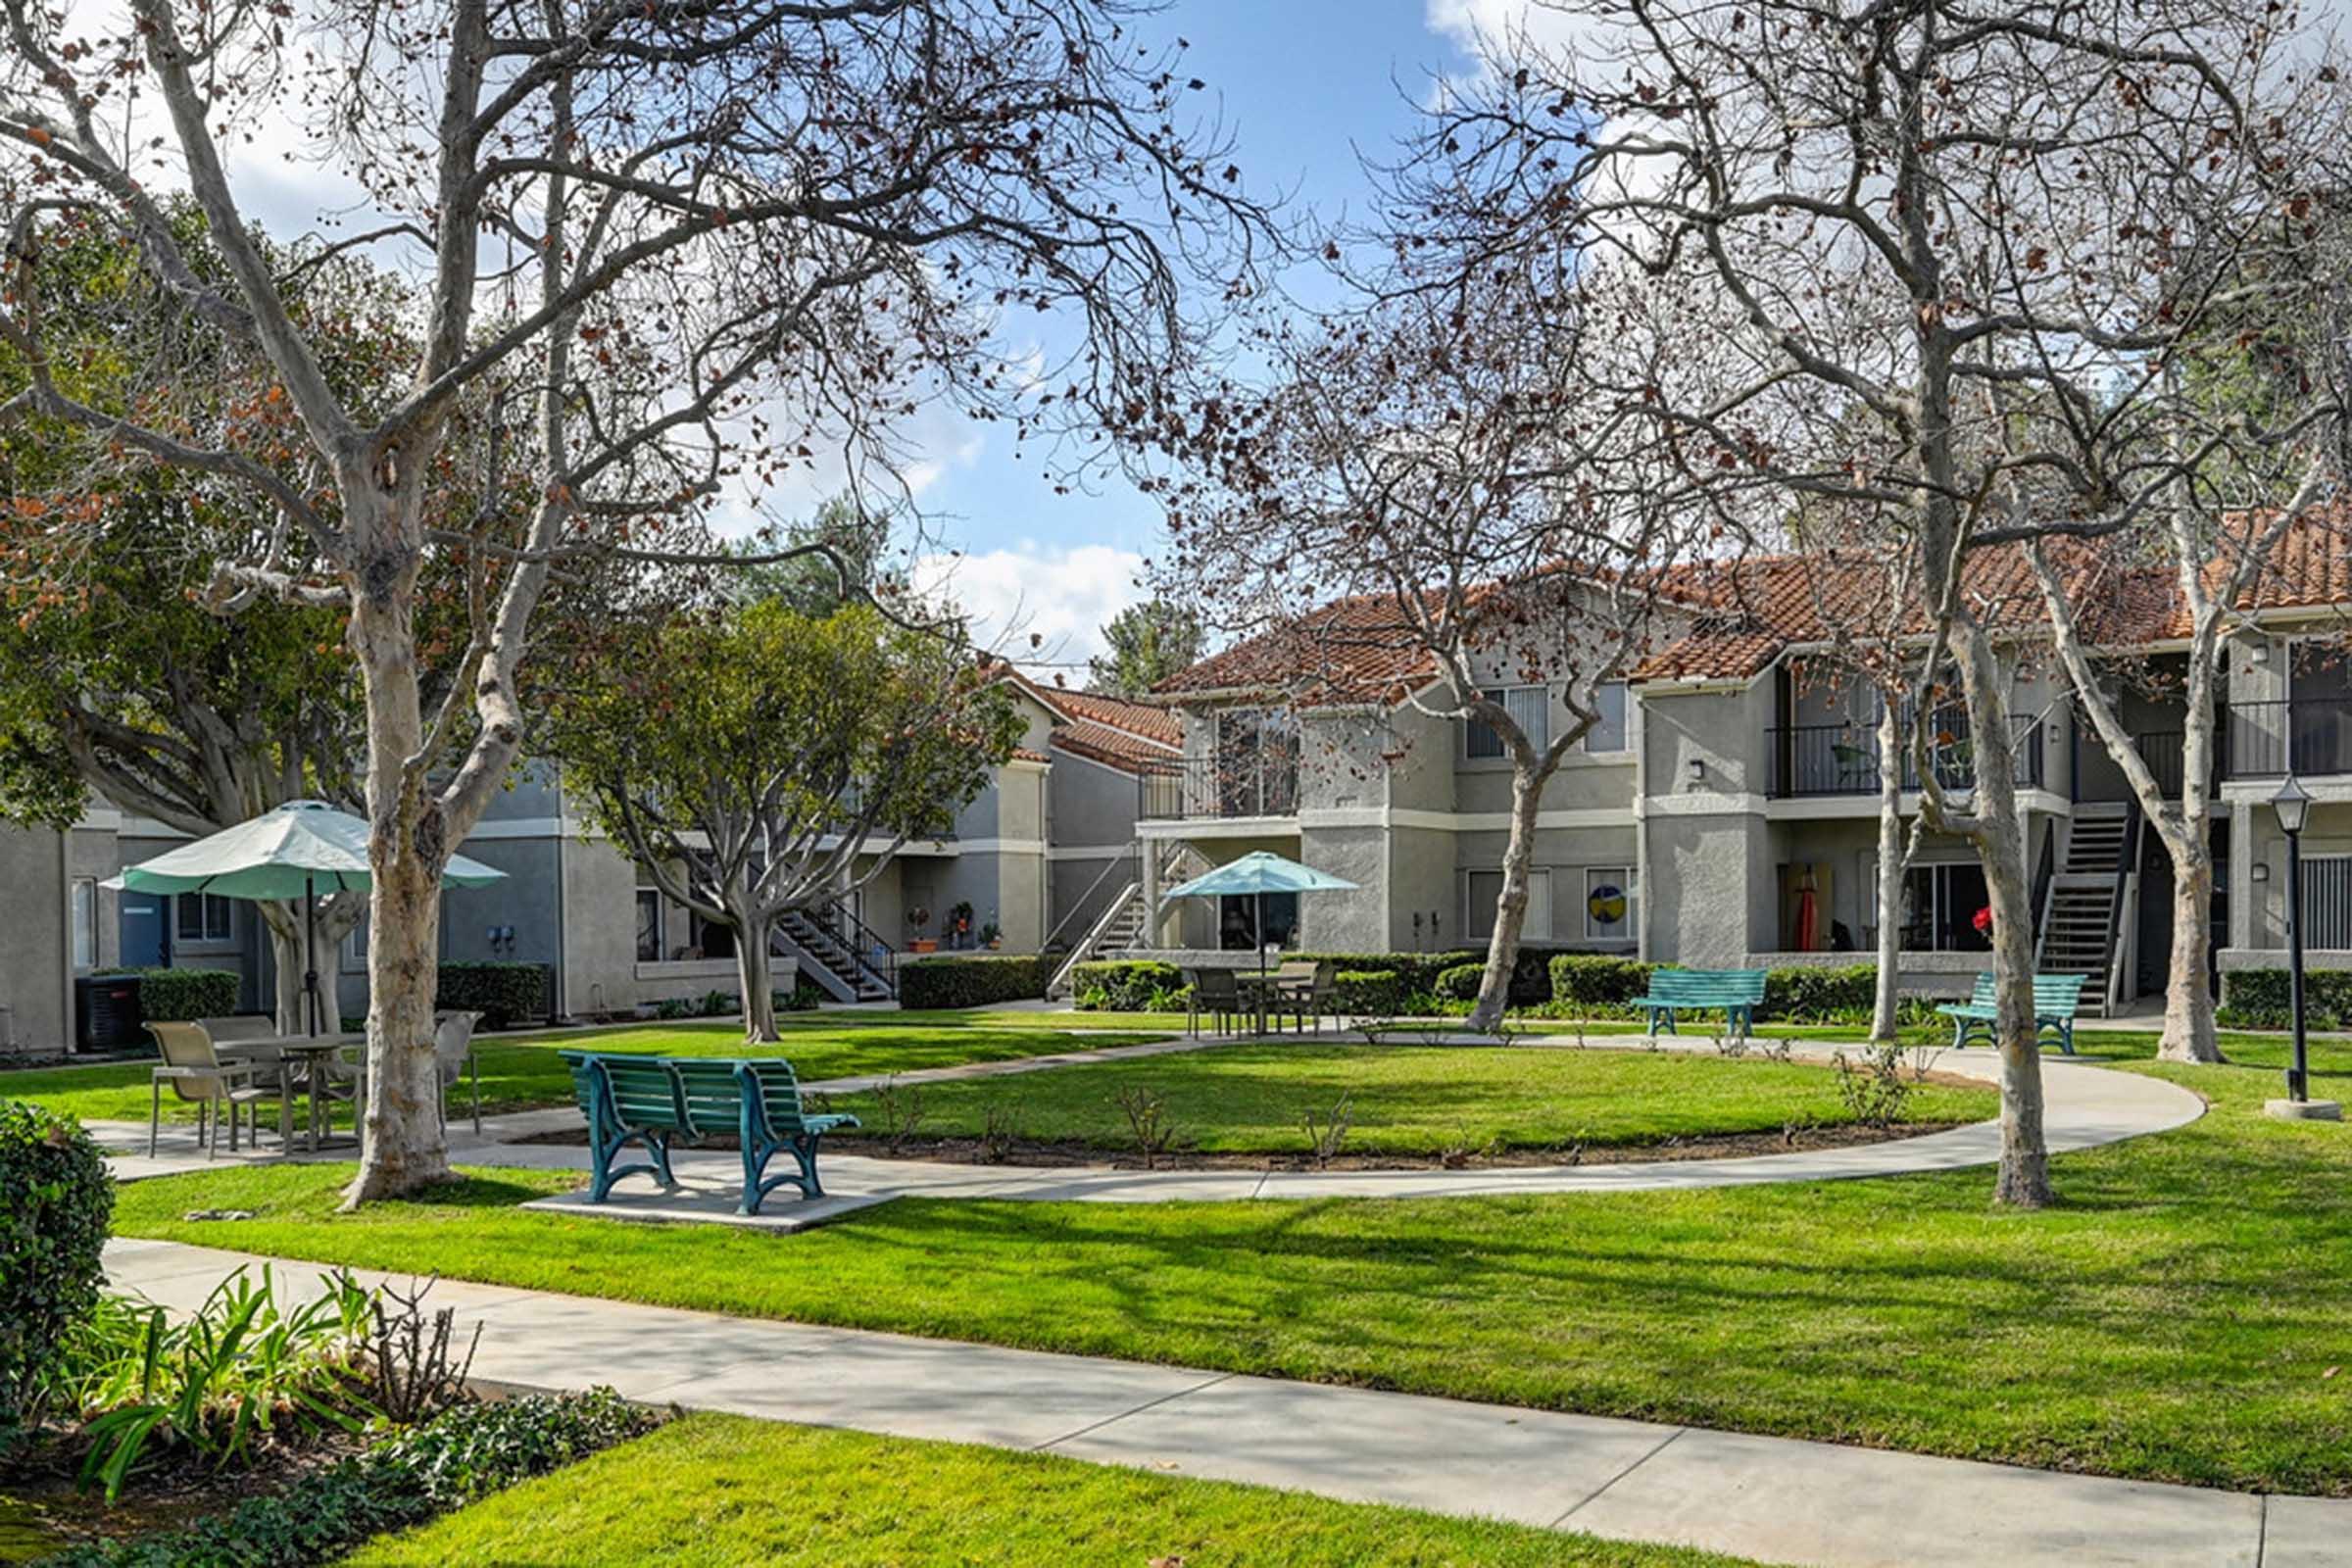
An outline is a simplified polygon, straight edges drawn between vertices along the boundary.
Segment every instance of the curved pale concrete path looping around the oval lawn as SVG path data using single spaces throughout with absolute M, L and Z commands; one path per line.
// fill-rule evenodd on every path
M 1070 1051 L 1047 1058 L 1021 1058 L 1007 1063 L 967 1063 L 936 1067 L 929 1072 L 901 1074 L 901 1081 L 978 1079 L 1018 1072 L 1044 1072 L 1101 1060 L 1138 1056 L 1162 1056 L 1171 1051 L 1200 1051 L 1218 1044 L 1247 1044 L 1240 1039 L 1171 1039 L 1136 1046 L 1108 1046 L 1101 1051 Z M 1661 1048 L 1715 1053 L 1703 1037 L 1661 1039 Z M 1790 1041 L 1795 1056 L 1828 1058 L 1837 1051 L 1830 1041 Z M 1418 1048 L 1418 1046 L 1399 1046 Z M 1642 1048 L 1637 1041 L 1618 1037 L 1604 1044 L 1578 1044 L 1571 1039 L 1526 1039 L 1515 1048 Z M 1999 1058 L 1992 1051 L 1945 1051 L 1936 1058 L 1938 1072 L 1962 1074 L 1980 1081 L 1999 1079 Z M 866 1088 L 875 1079 L 833 1079 L 811 1084 L 830 1093 Z M 2082 1063 L 2046 1058 L 2042 1063 L 2046 1091 L 2044 1131 L 2053 1154 L 2089 1150 L 2122 1138 L 2161 1133 L 2204 1114 L 2204 1100 L 2133 1072 L 2114 1072 Z M 520 1112 L 494 1117 L 475 1138 L 463 1124 L 449 1128 L 449 1157 L 468 1166 L 506 1166 L 536 1171 L 586 1171 L 588 1150 L 581 1145 L 524 1145 L 510 1143 L 546 1131 L 579 1128 L 579 1112 L 569 1107 Z M 139 1175 L 167 1175 L 205 1168 L 205 1157 L 193 1147 L 193 1133 L 167 1133 L 165 1154 L 146 1157 L 146 1126 L 96 1124 L 92 1133 L 115 1150 L 115 1173 L 125 1180 Z M 275 1145 L 273 1154 L 275 1157 Z M 1235 1199 L 1334 1199 L 1334 1197 L 1494 1197 L 1494 1194 L 1548 1194 L 1548 1192 L 1677 1192 L 1693 1187 L 1745 1187 L 1759 1182 L 1816 1182 L 1865 1175 L 1910 1175 L 1924 1171 L 1962 1171 L 1987 1166 L 1999 1159 L 1999 1124 L 1978 1121 L 1947 1133 L 1924 1138 L 1900 1138 L 1893 1143 L 1870 1143 L 1839 1150 L 1799 1150 L 1790 1154 L 1752 1154 L 1740 1159 L 1679 1159 L 1679 1161 L 1632 1161 L 1632 1164 L 1578 1164 L 1578 1166 L 1501 1166 L 1484 1171 L 1115 1171 L 1108 1166 L 974 1166 L 913 1159 L 868 1159 L 856 1154 L 828 1154 L 823 1175 L 828 1197 L 818 1204 L 795 1204 L 779 1199 L 762 1215 L 769 1229 L 800 1229 L 821 1225 L 856 1208 L 889 1201 L 894 1197 L 983 1197 L 1025 1201 L 1089 1201 L 1089 1204 L 1167 1204 L 1167 1201 L 1235 1201 Z M 350 1159 L 348 1147 L 329 1154 Z M 637 1178 L 612 1192 L 602 1206 L 586 1199 L 543 1199 L 541 1206 L 569 1208 L 609 1218 L 640 1220 L 713 1220 L 734 1222 L 734 1199 L 741 1185 L 741 1164 L 734 1154 L 682 1150 L 673 1157 L 682 1192 L 661 1192 Z

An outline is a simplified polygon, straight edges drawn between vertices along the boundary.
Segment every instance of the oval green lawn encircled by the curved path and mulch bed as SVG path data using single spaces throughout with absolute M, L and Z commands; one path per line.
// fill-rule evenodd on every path
M 1851 1121 L 1837 1074 L 1806 1063 L 1566 1046 L 1263 1044 L 922 1084 L 917 1133 L 974 1138 L 995 1110 L 1011 1117 L 1018 1138 L 1131 1150 L 1120 1110 L 1131 1091 L 1162 1095 L 1178 1145 L 1207 1154 L 1308 1150 L 1301 1117 L 1327 1121 L 1343 1095 L 1350 1154 L 1649 1145 Z M 835 1110 L 887 1126 L 875 1095 L 837 1095 Z M 1990 1088 L 1924 1084 L 1907 1114 L 1980 1121 L 1997 1110 Z

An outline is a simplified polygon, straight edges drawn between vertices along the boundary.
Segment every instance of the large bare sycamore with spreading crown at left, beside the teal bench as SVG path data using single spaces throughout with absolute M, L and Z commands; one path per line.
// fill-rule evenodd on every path
M 522 745 L 550 574 L 659 559 L 673 520 L 826 444 L 887 473 L 931 397 L 1082 428 L 1197 362 L 1183 280 L 1235 287 L 1263 226 L 1240 172 L 1178 129 L 1200 82 L 1127 21 L 1117 0 L 129 0 L 118 31 L 78 35 L 38 0 L 0 0 L 0 341 L 26 364 L 0 409 L 73 425 L 96 463 L 254 491 L 273 543 L 223 567 L 223 599 L 348 616 L 374 827 L 348 1204 L 447 1175 L 437 884 Z M 416 348 L 360 393 L 322 374 L 228 176 L 226 148 L 266 115 L 372 209 L 362 233 L 322 221 L 289 249 L 414 266 Z M 223 282 L 158 209 L 169 181 L 202 209 Z M 169 386 L 87 402 L 38 348 L 45 294 L 73 287 L 45 266 L 68 216 L 134 244 L 165 308 L 266 367 L 292 440 L 198 440 Z M 1042 374 L 995 348 L 1009 315 L 1037 313 L 1068 327 Z M 468 402 L 487 428 L 452 470 Z M 506 505 L 517 480 L 527 503 Z M 428 496 L 449 487 L 485 505 L 433 527 Z M 468 616 L 428 708 L 419 576 L 442 552 L 466 562 Z

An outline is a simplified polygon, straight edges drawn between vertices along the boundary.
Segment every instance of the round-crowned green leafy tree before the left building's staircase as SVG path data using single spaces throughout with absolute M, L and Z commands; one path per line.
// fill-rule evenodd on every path
M 553 703 L 546 748 L 586 820 L 734 931 L 748 1039 L 776 1039 L 776 919 L 953 832 L 1011 757 L 1021 717 L 957 649 L 873 604 L 771 597 L 600 639 Z

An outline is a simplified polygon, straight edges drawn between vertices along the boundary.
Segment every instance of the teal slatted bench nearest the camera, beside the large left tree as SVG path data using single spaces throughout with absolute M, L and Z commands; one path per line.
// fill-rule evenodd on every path
M 572 1067 L 572 1088 L 588 1117 L 590 1173 L 588 1201 L 602 1204 L 623 1175 L 652 1175 L 675 1187 L 670 1173 L 670 1138 L 713 1138 L 731 1133 L 743 1150 L 743 1199 L 736 1213 L 760 1213 L 762 1199 L 786 1182 L 802 1197 L 818 1199 L 816 1140 L 856 1117 L 811 1117 L 800 1105 L 800 1079 L 793 1063 L 727 1060 L 713 1056 L 626 1056 L 614 1051 L 562 1051 Z M 630 1145 L 644 1145 L 649 1164 L 614 1168 Z M 797 1171 L 767 1175 L 767 1161 L 779 1152 L 793 1157 Z

